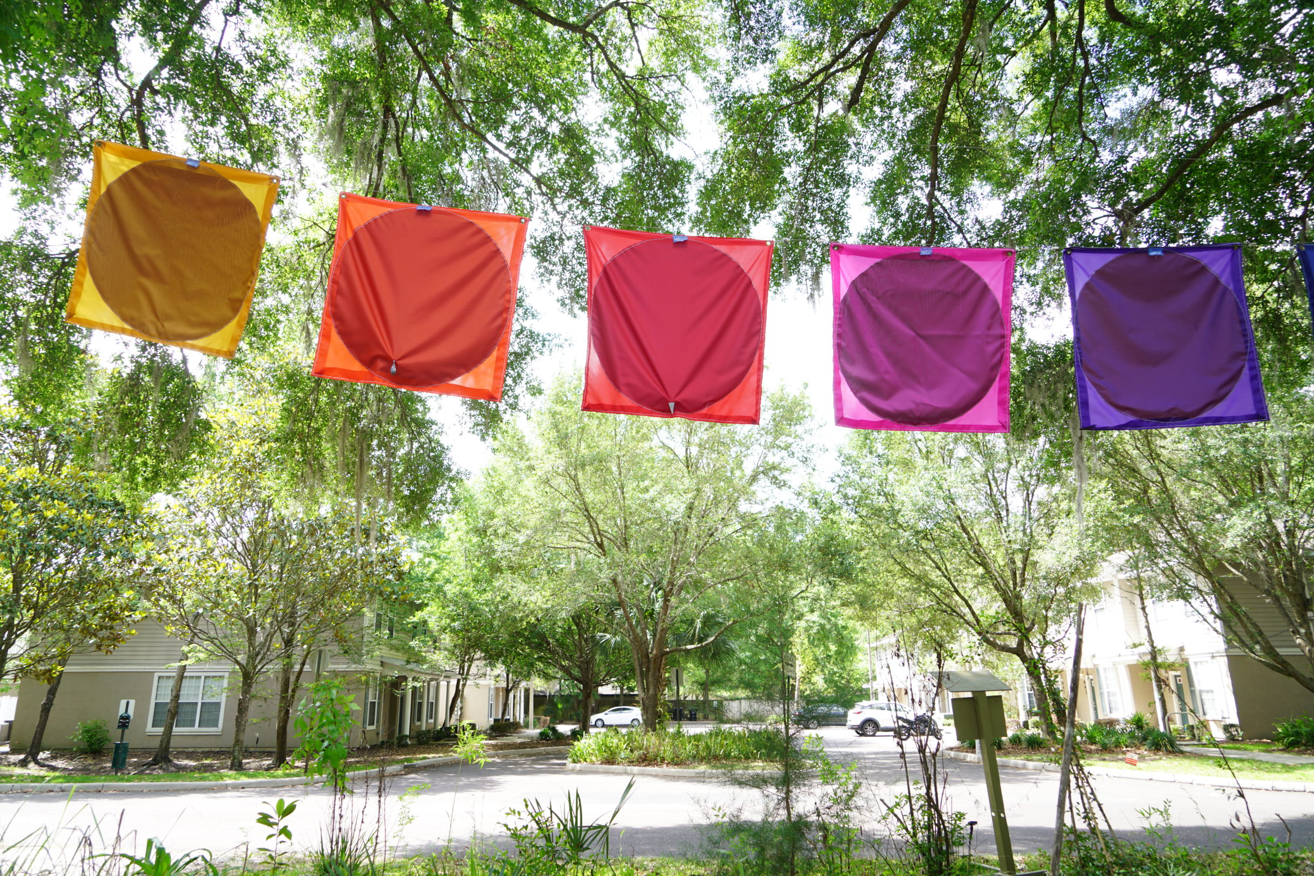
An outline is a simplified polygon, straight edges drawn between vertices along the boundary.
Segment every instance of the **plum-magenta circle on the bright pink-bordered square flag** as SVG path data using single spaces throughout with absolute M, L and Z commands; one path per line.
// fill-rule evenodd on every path
M 870 411 L 937 426 L 970 411 L 1004 365 L 1004 317 L 982 276 L 943 255 L 899 255 L 840 302 L 840 373 Z

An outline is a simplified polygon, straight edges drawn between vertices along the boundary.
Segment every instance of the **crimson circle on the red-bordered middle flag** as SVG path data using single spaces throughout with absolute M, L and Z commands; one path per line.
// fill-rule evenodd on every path
M 694 414 L 738 386 L 757 361 L 762 301 L 716 247 L 644 240 L 598 274 L 589 336 L 625 398 L 658 414 Z

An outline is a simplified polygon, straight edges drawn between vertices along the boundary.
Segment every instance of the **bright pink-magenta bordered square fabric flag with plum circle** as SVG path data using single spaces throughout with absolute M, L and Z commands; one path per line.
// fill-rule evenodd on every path
M 830 244 L 834 422 L 1007 432 L 1012 250 Z

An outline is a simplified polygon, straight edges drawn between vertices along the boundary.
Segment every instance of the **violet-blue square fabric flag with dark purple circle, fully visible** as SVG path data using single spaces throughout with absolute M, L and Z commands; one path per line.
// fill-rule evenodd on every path
M 1084 429 L 1268 419 L 1240 244 L 1067 250 Z

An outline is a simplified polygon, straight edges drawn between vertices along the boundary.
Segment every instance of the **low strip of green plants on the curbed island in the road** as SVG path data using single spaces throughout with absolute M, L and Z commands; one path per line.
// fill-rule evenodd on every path
M 725 760 L 779 760 L 783 741 L 777 730 L 712 728 L 685 734 L 679 728 L 590 733 L 570 747 L 572 763 L 681 764 Z M 794 745 L 798 745 L 795 742 Z

